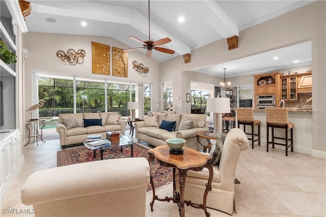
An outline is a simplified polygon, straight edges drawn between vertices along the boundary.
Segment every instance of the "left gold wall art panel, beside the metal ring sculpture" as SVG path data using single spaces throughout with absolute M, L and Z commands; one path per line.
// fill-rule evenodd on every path
M 92 73 L 110 75 L 110 46 L 92 41 Z

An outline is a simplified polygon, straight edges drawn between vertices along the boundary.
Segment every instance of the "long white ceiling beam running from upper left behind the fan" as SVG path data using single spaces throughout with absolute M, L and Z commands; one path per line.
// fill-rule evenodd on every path
M 134 9 L 88 1 L 79 1 L 78 7 L 76 7 L 75 4 L 70 4 L 70 1 L 67 1 L 67 4 L 65 4 L 65 8 L 60 8 L 59 5 L 45 6 L 36 3 L 32 3 L 32 8 L 35 12 L 90 20 L 99 20 L 105 22 L 129 24 L 133 28 L 139 30 L 140 32 L 148 36 L 148 18 Z M 85 11 L 85 8 L 88 10 Z M 179 55 L 183 55 L 184 53 L 191 53 L 191 49 L 186 44 L 182 43 L 172 34 L 160 28 L 157 24 L 153 23 L 152 21 L 150 23 L 150 31 L 151 38 L 153 41 L 166 37 L 170 38 L 172 41 L 170 43 L 165 44 L 165 46 L 175 50 Z M 141 40 L 145 41 L 148 40 L 148 38 Z

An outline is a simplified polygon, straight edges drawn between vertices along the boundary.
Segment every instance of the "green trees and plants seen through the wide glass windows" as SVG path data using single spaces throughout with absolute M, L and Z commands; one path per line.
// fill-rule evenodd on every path
M 104 82 L 76 81 L 76 112 L 105 112 Z M 145 86 L 150 89 L 150 86 Z M 107 112 L 118 112 L 121 116 L 129 116 L 127 102 L 130 86 L 124 84 L 107 85 Z M 148 90 L 149 91 L 149 90 Z M 73 80 L 39 77 L 39 99 L 46 103 L 39 109 L 39 117 L 57 117 L 63 113 L 73 113 Z M 132 101 L 135 91 L 132 86 Z M 145 90 L 145 114 L 150 111 L 150 94 Z

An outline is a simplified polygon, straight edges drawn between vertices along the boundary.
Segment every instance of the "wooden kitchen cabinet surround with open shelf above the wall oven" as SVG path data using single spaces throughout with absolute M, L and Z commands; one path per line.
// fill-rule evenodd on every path
M 254 90 L 255 99 L 257 96 L 263 95 L 275 95 L 276 102 L 280 101 L 280 76 L 283 75 L 282 72 L 272 72 L 265 74 L 254 75 Z M 256 100 L 254 100 L 254 107 L 257 106 Z

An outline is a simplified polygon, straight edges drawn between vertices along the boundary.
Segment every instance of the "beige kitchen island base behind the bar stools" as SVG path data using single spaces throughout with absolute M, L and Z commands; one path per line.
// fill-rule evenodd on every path
M 289 110 L 289 122 L 294 124 L 293 128 L 293 151 L 310 154 L 312 151 L 312 110 Z M 266 146 L 266 117 L 264 109 L 254 109 L 255 120 L 261 121 L 260 125 L 260 144 Z M 237 126 L 237 123 L 236 123 Z M 240 126 L 243 129 L 243 126 Z M 247 127 L 246 131 L 250 132 L 250 128 Z M 257 129 L 255 129 L 257 130 Z M 269 129 L 270 130 L 270 129 Z M 255 133 L 258 133 L 255 131 Z M 276 136 L 284 137 L 284 129 L 275 129 Z M 276 140 L 277 141 L 277 140 Z M 280 140 L 281 141 L 281 140 Z M 282 141 L 282 143 L 284 140 Z M 255 143 L 258 145 L 258 143 Z M 275 148 L 284 149 L 284 146 L 275 145 Z M 270 146 L 270 151 L 272 150 Z M 289 152 L 291 156 L 291 152 Z

